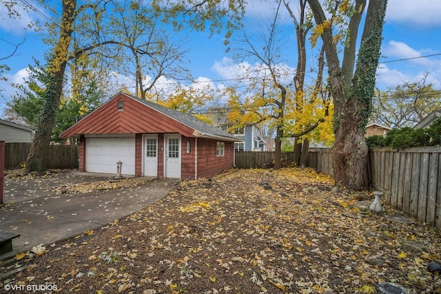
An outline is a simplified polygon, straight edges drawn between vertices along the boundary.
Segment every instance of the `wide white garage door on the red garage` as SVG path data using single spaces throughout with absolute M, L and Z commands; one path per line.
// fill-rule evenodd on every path
M 92 173 L 116 174 L 116 162 L 123 162 L 121 174 L 135 174 L 135 138 L 86 138 L 85 169 Z

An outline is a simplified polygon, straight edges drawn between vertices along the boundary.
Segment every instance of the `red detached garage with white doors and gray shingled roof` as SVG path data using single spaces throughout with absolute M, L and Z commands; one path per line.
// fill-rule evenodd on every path
M 231 134 L 191 116 L 119 93 L 60 135 L 79 138 L 79 170 L 203 178 L 234 167 Z

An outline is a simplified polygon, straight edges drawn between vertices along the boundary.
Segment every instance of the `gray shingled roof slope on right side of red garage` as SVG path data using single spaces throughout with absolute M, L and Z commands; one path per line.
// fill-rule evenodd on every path
M 146 101 L 132 95 L 128 95 L 128 94 L 126 95 L 136 99 L 137 101 L 147 105 L 148 107 L 151 107 L 152 109 L 155 109 L 158 112 L 161 112 L 162 114 L 165 114 L 166 116 L 169 116 L 170 118 L 173 118 L 174 120 L 177 120 L 179 123 L 183 123 L 184 125 L 187 125 L 188 127 L 191 127 L 192 129 L 201 132 L 203 137 L 216 137 L 216 138 L 225 138 L 226 140 L 239 141 L 232 134 L 224 132 L 218 127 L 209 125 L 208 123 L 205 123 L 205 121 L 200 120 L 199 118 L 196 118 L 190 114 L 178 112 L 174 109 L 165 107 L 163 105 L 159 105 L 157 103 L 153 103 L 151 101 Z

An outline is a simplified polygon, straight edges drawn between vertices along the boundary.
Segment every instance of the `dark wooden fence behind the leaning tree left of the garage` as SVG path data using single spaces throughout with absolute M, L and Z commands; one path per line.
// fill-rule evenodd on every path
M 5 144 L 5 168 L 19 167 L 26 162 L 31 143 Z M 50 169 L 78 168 L 78 146 L 76 145 L 49 145 L 47 166 Z

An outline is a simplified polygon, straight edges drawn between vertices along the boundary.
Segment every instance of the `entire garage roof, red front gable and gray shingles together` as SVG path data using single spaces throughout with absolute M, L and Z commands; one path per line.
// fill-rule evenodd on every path
M 127 102 L 123 111 L 119 101 Z M 145 134 L 178 132 L 188 137 L 238 141 L 236 137 L 192 115 L 119 93 L 65 130 L 62 138 L 81 134 Z

